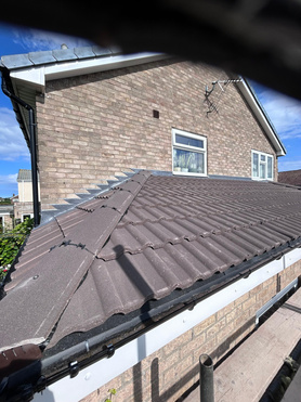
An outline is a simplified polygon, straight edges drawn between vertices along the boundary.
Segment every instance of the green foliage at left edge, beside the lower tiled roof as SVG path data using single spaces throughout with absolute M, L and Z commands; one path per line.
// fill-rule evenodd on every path
M 0 270 L 0 282 L 5 276 L 5 267 L 13 262 L 32 226 L 34 219 L 25 219 L 23 223 L 17 224 L 13 230 L 0 235 L 0 267 L 4 268 Z

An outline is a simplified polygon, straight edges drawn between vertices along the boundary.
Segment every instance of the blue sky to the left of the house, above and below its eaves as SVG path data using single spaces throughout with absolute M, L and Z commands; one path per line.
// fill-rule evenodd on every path
M 0 56 L 89 44 L 81 38 L 70 38 L 36 29 L 0 23 Z M 18 169 L 30 169 L 29 151 L 15 119 L 11 101 L 0 89 L 0 197 L 11 197 L 17 193 Z

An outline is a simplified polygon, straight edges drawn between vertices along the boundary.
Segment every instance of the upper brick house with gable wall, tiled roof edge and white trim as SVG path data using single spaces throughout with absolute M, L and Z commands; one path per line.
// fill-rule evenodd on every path
M 266 155 L 270 176 L 262 176 L 277 180 L 284 146 L 247 82 L 227 85 L 223 72 L 97 48 L 6 56 L 2 64 L 14 93 L 36 109 L 43 210 L 132 168 L 171 171 L 179 159 L 172 142 L 185 147 L 175 143 L 176 130 L 204 142 L 199 176 L 259 178 L 251 158 L 256 165 Z M 210 105 L 218 113 L 208 113 Z M 26 111 L 19 114 L 26 121 Z M 24 131 L 28 141 L 26 126 Z

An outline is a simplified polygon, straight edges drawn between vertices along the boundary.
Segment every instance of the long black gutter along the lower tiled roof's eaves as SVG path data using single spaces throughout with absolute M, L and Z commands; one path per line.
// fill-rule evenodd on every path
M 148 304 L 148 309 L 141 308 L 127 316 L 113 316 L 107 321 L 107 323 L 112 321 L 110 325 L 106 326 L 105 323 L 94 328 L 95 333 L 92 329 L 90 334 L 78 334 L 77 343 L 74 346 L 63 343 L 61 350 L 56 347 L 45 350 L 41 360 L 43 380 L 37 385 L 36 392 L 67 375 L 75 377 L 79 371 L 101 359 L 110 358 L 116 349 L 179 313 L 192 310 L 199 301 L 241 278 L 249 277 L 252 272 L 298 247 L 301 247 L 301 237 L 245 261 L 238 267 L 232 267 L 207 281 L 197 282 L 188 289 L 174 290 L 161 300 L 148 301 L 145 304 Z M 116 320 L 119 322 L 116 323 Z M 68 342 L 67 337 L 65 341 Z

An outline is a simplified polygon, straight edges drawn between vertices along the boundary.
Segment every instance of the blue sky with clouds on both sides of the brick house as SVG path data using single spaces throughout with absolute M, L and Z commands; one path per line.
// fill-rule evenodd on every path
M 0 56 L 89 44 L 84 39 L 21 29 L 0 23 Z M 252 82 L 253 89 L 280 137 L 287 155 L 279 171 L 301 169 L 301 103 Z M 0 90 L 0 197 L 17 193 L 18 169 L 30 169 L 30 158 L 8 96 Z

